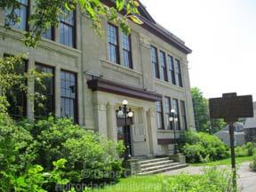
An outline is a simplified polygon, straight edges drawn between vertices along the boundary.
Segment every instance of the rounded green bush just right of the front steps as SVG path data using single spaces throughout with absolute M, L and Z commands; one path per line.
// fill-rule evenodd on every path
M 186 144 L 180 149 L 190 163 L 204 163 L 228 157 L 228 147 L 216 136 L 204 132 L 186 132 Z

